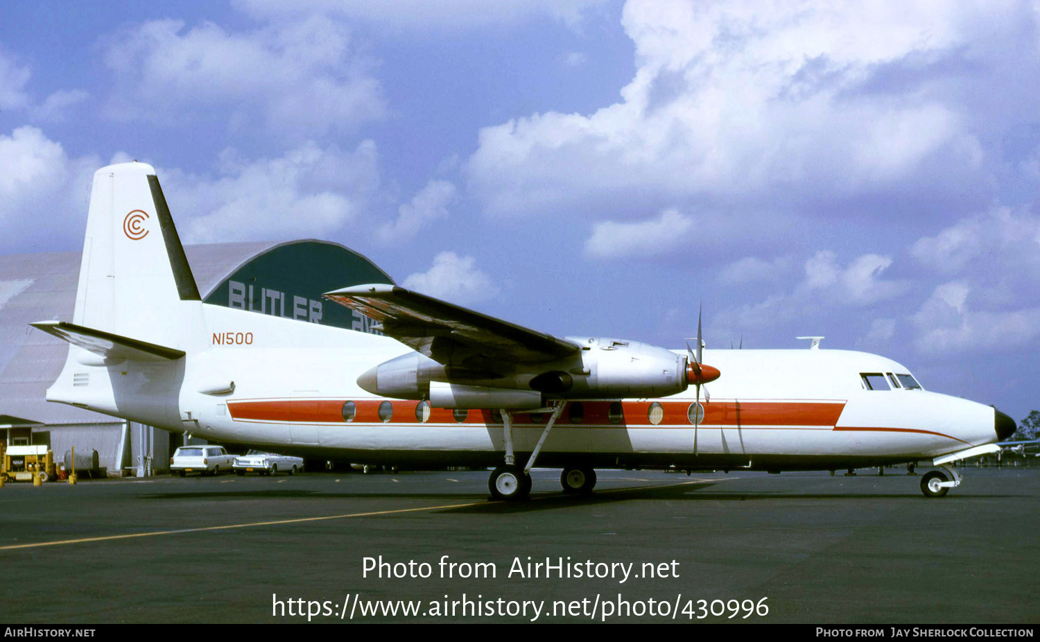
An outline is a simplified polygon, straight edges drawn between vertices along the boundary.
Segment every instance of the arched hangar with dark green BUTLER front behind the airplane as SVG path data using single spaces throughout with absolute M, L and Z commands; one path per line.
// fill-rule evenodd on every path
M 371 322 L 321 293 L 393 283 L 370 260 L 339 243 L 306 239 L 185 246 L 203 301 L 362 332 Z M 28 324 L 72 320 L 80 252 L 0 256 L 0 443 L 43 444 L 61 460 L 72 446 L 98 453 L 113 476 L 165 472 L 185 436 L 46 401 L 69 344 Z

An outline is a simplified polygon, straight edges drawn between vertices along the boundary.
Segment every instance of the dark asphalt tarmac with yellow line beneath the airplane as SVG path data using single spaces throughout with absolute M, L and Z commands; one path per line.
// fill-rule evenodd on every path
M 1040 470 L 558 476 L 8 483 L 0 621 L 1040 622 Z

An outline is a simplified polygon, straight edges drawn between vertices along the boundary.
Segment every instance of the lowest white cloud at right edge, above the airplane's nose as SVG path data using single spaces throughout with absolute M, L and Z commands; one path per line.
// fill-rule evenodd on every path
M 979 350 L 1007 351 L 1040 336 L 1040 308 L 976 311 L 971 288 L 951 281 L 935 288 L 910 319 L 917 328 L 915 348 L 926 355 Z

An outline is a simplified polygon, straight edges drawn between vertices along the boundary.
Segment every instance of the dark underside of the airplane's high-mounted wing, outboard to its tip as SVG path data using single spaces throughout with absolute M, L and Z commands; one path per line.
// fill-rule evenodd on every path
M 553 361 L 581 348 L 574 341 L 480 314 L 433 297 L 371 283 L 323 294 L 336 303 L 380 322 L 392 336 L 440 363 L 469 353 L 521 363 Z

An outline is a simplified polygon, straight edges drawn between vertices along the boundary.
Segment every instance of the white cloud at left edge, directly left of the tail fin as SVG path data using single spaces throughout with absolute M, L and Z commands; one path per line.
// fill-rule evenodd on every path
M 30 252 L 82 239 L 96 156 L 71 158 L 36 127 L 0 134 L 0 248 Z

